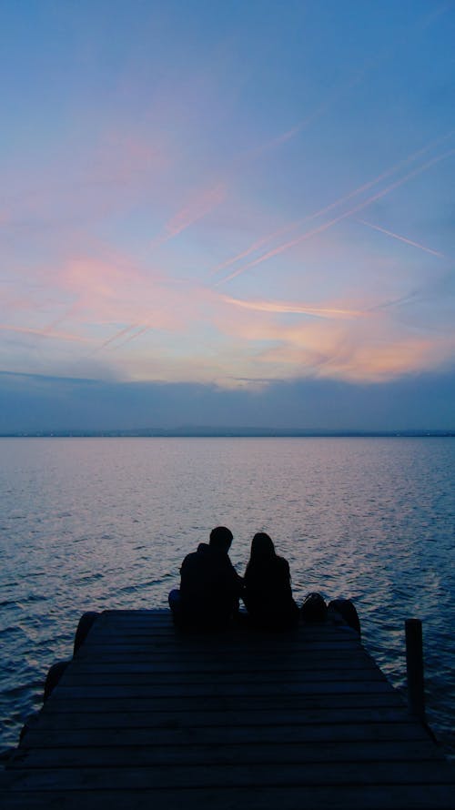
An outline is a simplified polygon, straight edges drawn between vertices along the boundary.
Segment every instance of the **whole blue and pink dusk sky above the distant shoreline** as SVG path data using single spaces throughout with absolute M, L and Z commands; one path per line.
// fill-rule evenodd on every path
M 0 0 L 0 431 L 455 428 L 453 0 Z

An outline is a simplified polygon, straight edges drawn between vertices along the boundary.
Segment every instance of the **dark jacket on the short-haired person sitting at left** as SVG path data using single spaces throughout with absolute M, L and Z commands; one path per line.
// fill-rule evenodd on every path
M 180 568 L 181 611 L 189 622 L 226 623 L 238 609 L 243 580 L 227 552 L 205 542 L 187 554 Z

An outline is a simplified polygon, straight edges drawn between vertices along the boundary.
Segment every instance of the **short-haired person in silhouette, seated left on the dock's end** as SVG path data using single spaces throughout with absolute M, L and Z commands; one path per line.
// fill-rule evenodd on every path
M 180 589 L 169 593 L 174 621 L 182 627 L 216 630 L 226 627 L 238 613 L 243 580 L 227 552 L 232 532 L 217 526 L 210 541 L 199 543 L 197 552 L 187 554 L 180 568 Z

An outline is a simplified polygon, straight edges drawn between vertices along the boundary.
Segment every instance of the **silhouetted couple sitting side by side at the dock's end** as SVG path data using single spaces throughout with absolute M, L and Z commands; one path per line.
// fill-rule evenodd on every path
M 214 630 L 226 627 L 238 615 L 242 599 L 255 626 L 282 630 L 298 623 L 292 598 L 288 562 L 278 557 L 268 534 L 255 534 L 242 579 L 229 560 L 232 532 L 217 526 L 210 541 L 187 554 L 180 568 L 180 589 L 169 593 L 169 605 L 178 626 Z

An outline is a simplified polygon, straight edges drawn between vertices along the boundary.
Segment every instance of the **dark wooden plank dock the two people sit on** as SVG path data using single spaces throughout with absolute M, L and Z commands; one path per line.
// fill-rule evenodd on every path
M 455 806 L 455 769 L 356 633 L 179 633 L 101 613 L 0 777 L 0 805 Z

